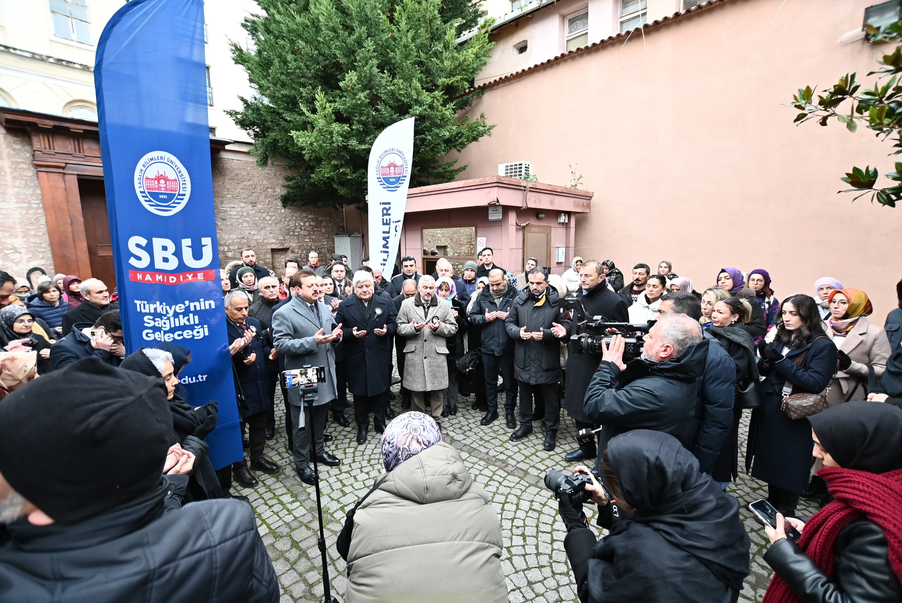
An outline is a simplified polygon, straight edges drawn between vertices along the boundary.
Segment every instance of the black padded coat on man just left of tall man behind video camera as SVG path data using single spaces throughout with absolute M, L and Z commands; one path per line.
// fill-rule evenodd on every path
M 570 337 L 570 321 L 558 315 L 557 301 L 557 291 L 548 286 L 545 297 L 538 302 L 530 293 L 521 292 L 511 304 L 504 328 L 514 341 L 513 372 L 518 381 L 531 385 L 557 384 L 561 380 L 561 344 Z M 551 332 L 554 322 L 566 329 L 563 338 L 558 339 Z M 542 339 L 521 338 L 523 327 L 530 333 L 542 331 Z

